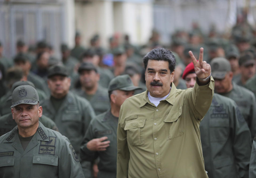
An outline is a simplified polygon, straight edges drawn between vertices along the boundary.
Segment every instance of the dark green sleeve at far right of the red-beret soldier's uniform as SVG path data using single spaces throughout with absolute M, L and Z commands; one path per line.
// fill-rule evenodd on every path
M 230 111 L 231 137 L 233 139 L 233 150 L 235 162 L 238 167 L 239 177 L 248 177 L 250 151 L 251 151 L 251 132 L 243 118 L 238 106 L 233 103 Z

